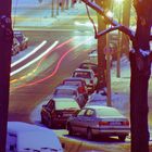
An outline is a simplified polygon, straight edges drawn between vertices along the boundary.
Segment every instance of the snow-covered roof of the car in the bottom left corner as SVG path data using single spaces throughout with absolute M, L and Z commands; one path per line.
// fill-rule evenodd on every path
M 8 122 L 8 135 L 17 137 L 17 148 L 20 151 L 25 148 L 36 150 L 40 150 L 41 148 L 62 150 L 55 132 L 41 126 L 24 122 Z

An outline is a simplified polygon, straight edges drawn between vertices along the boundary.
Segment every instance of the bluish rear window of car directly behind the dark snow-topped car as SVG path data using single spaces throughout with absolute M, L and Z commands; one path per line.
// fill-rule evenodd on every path
M 55 96 L 75 96 L 76 91 L 71 89 L 58 89 L 54 92 Z

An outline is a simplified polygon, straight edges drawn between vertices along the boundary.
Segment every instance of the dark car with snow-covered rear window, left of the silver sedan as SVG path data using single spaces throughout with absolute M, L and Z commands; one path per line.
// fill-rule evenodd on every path
M 67 118 L 79 110 L 77 101 L 73 98 L 52 98 L 42 105 L 41 123 L 48 127 L 65 127 Z

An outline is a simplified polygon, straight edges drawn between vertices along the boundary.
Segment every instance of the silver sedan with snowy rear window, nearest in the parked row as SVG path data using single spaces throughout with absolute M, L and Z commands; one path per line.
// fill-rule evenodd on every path
M 118 136 L 125 141 L 130 131 L 129 121 L 116 109 L 110 106 L 86 106 L 80 112 L 67 119 L 69 135 L 86 135 L 88 140 L 93 136 Z

